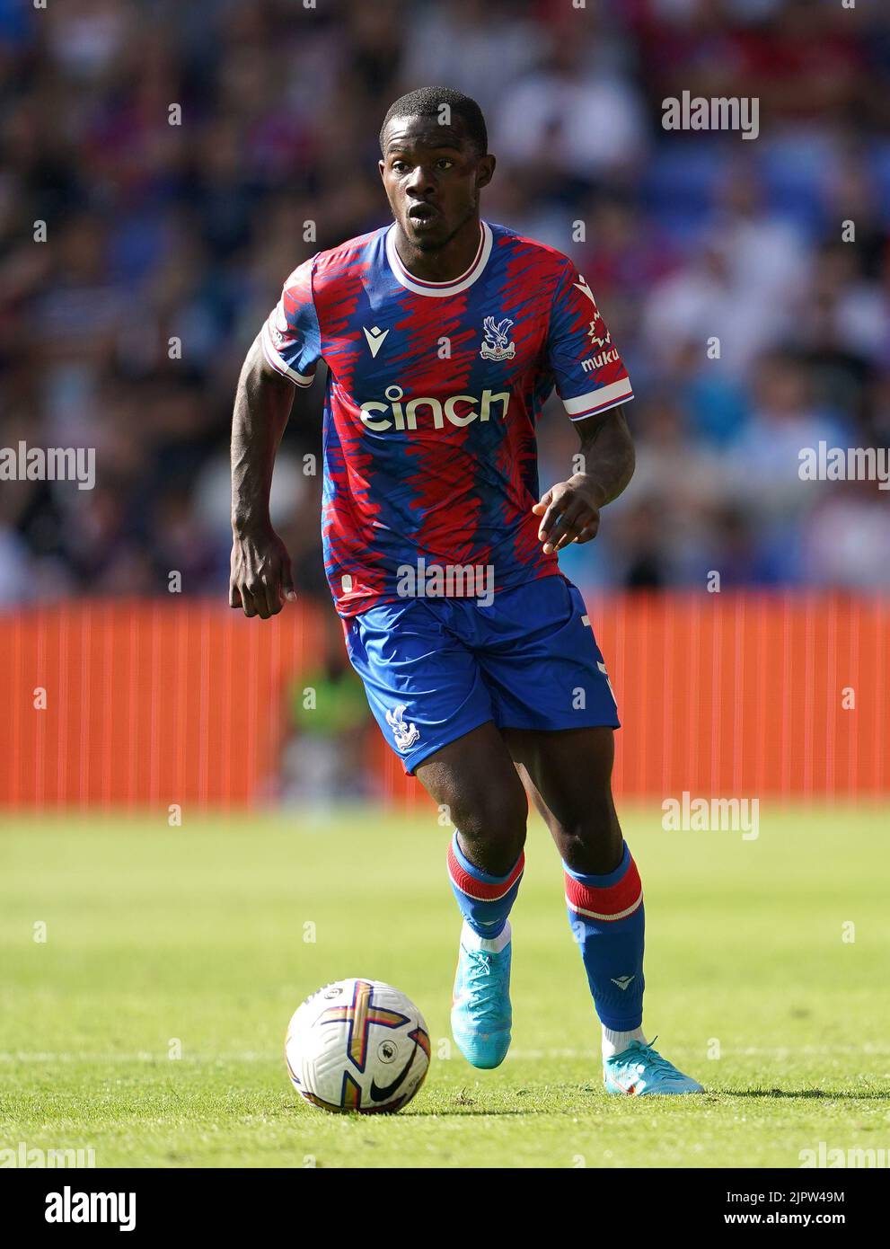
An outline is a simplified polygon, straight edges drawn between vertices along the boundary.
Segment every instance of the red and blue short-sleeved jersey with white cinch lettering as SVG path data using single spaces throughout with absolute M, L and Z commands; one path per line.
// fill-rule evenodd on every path
M 318 252 L 262 330 L 297 386 L 327 366 L 325 568 L 341 616 L 403 597 L 406 568 L 487 568 L 497 593 L 559 571 L 538 540 L 535 423 L 557 387 L 570 420 L 633 398 L 570 260 L 482 222 L 469 269 L 427 282 L 394 226 Z

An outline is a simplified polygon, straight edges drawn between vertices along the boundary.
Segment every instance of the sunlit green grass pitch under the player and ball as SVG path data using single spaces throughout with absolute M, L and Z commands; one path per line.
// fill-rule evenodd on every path
M 513 912 L 513 1049 L 477 1072 L 449 1042 L 459 921 L 432 808 L 186 811 L 177 829 L 165 814 L 7 817 L 0 1148 L 362 1168 L 795 1168 L 820 1142 L 890 1148 L 889 812 L 760 806 L 756 841 L 623 809 L 647 897 L 647 1032 L 709 1090 L 639 1100 L 602 1090 L 537 819 Z M 290 1085 L 288 1018 L 345 975 L 389 980 L 426 1014 L 432 1067 L 401 1114 L 327 1115 Z

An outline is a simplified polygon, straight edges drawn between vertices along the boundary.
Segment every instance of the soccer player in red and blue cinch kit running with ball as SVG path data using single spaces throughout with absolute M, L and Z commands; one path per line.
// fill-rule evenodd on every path
M 268 491 L 293 386 L 323 360 L 325 567 L 346 647 L 406 772 L 457 829 L 461 1052 L 492 1068 L 509 1047 L 528 792 L 563 859 L 605 1088 L 700 1092 L 642 1030 L 643 892 L 612 799 L 615 701 L 558 563 L 633 473 L 630 380 L 572 261 L 481 220 L 494 157 L 473 100 L 402 96 L 381 151 L 393 224 L 300 265 L 245 361 L 230 603 L 266 620 L 295 597 Z M 535 422 L 554 386 L 583 471 L 539 493 Z

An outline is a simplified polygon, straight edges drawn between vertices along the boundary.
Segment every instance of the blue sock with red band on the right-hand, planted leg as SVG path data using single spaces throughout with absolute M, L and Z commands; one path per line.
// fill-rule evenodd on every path
M 605 876 L 565 867 L 565 903 L 572 936 L 580 945 L 593 1004 L 615 1032 L 643 1023 L 643 886 L 628 843 L 622 862 Z

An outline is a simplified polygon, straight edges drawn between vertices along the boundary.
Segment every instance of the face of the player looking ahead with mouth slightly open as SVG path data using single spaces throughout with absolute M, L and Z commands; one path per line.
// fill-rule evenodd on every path
M 379 171 L 404 236 L 419 251 L 437 251 L 478 217 L 494 157 L 478 155 L 459 117 L 448 126 L 436 117 L 393 117 Z

